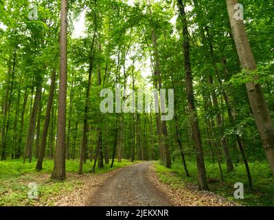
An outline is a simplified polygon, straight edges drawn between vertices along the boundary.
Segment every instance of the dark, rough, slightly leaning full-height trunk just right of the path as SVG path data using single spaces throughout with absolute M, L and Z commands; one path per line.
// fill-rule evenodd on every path
M 203 157 L 203 147 L 201 142 L 201 133 L 198 126 L 198 116 L 194 104 L 194 91 L 192 85 L 192 69 L 190 63 L 190 39 L 187 30 L 187 19 L 185 14 L 185 6 L 182 0 L 178 1 L 181 21 L 183 23 L 183 54 L 185 58 L 185 82 L 187 89 L 188 111 L 190 113 L 190 124 L 192 127 L 192 135 L 196 152 L 196 164 L 198 168 L 198 184 L 200 190 L 207 190 L 207 176 L 205 172 L 205 161 Z

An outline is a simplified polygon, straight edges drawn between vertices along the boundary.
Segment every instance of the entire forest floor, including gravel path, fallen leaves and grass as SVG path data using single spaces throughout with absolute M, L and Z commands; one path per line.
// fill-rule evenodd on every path
M 90 173 L 93 162 L 84 164 L 83 175 L 78 175 L 78 161 L 68 160 L 67 179 L 50 179 L 53 161 L 46 159 L 43 171 L 34 170 L 36 161 L 23 164 L 22 159 L 0 162 L 0 206 L 261 206 L 273 204 L 273 183 L 262 178 L 267 164 L 251 164 L 254 190 L 244 188 L 243 201 L 233 199 L 233 183 L 244 183 L 241 165 L 234 173 L 218 181 L 218 170 L 207 166 L 210 175 L 209 191 L 199 191 L 196 183 L 195 163 L 189 162 L 191 177 L 185 177 L 181 164 L 168 169 L 159 162 L 123 160 L 110 168 Z M 255 169 L 256 168 L 256 169 Z M 265 172 L 264 172 L 265 173 Z M 236 175 L 237 174 L 237 175 Z M 212 179 L 215 181 L 212 182 Z M 267 179 L 263 182 L 262 179 Z M 38 186 L 38 199 L 29 199 L 28 184 Z M 272 198 L 272 199 L 271 199 Z

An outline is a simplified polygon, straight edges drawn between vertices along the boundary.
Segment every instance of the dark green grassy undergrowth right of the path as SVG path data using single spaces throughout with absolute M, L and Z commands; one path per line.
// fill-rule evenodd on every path
M 253 178 L 253 189 L 248 187 L 247 175 L 244 164 L 235 164 L 235 170 L 225 173 L 225 164 L 222 164 L 225 181 L 221 181 L 218 164 L 206 163 L 207 177 L 209 179 L 209 191 L 215 192 L 222 197 L 227 197 L 231 201 L 236 201 L 244 206 L 274 206 L 274 181 L 271 170 L 267 162 L 249 162 L 251 175 Z M 187 168 L 191 177 L 186 177 L 183 166 L 179 163 L 172 164 L 168 169 L 155 163 L 157 175 L 160 180 L 172 187 L 176 187 L 186 182 L 197 183 L 197 169 L 195 162 L 187 162 Z M 234 184 L 241 182 L 244 184 L 244 199 L 233 197 Z

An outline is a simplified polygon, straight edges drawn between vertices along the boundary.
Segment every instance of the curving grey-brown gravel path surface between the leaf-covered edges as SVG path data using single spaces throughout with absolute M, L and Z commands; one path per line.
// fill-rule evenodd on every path
M 151 164 L 122 168 L 98 188 L 87 206 L 172 206 L 170 198 L 149 180 Z

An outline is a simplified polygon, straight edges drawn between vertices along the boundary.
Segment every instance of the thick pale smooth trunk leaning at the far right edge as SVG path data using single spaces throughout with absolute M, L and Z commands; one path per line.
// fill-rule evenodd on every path
M 226 0 L 227 10 L 229 12 L 229 19 L 231 23 L 231 29 L 233 32 L 233 37 L 236 43 L 236 48 L 238 51 L 238 56 L 240 58 L 240 63 L 242 69 L 247 70 L 247 74 L 254 72 L 257 69 L 255 58 L 253 52 L 249 45 L 249 40 L 247 37 L 247 32 L 244 28 L 244 21 L 235 20 L 234 15 L 234 5 L 236 5 L 238 0 Z M 269 160 L 269 165 L 274 177 L 274 126 L 269 113 L 269 109 L 266 105 L 266 100 L 262 92 L 262 88 L 256 82 L 258 76 L 254 76 L 253 81 L 246 84 L 247 94 L 249 96 L 249 102 L 251 104 L 251 109 L 255 118 L 255 123 L 257 125 L 262 144 L 264 146 L 264 151 L 266 157 Z

